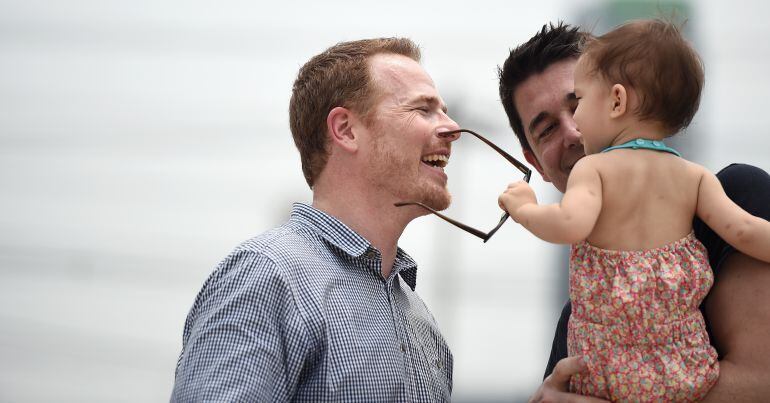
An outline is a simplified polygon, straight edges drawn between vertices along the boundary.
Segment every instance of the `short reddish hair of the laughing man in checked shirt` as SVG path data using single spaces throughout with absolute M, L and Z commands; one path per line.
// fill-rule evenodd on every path
M 326 117 L 341 106 L 366 120 L 377 95 L 368 61 L 382 53 L 420 61 L 420 49 L 410 39 L 377 38 L 338 43 L 300 68 L 289 101 L 289 125 L 311 188 L 329 157 Z

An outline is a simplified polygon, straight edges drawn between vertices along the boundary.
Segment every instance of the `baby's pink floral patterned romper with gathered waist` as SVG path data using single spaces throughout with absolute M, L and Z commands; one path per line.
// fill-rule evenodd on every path
M 693 233 L 642 251 L 573 245 L 568 351 L 589 371 L 571 390 L 622 402 L 703 398 L 719 376 L 698 310 L 713 281 Z

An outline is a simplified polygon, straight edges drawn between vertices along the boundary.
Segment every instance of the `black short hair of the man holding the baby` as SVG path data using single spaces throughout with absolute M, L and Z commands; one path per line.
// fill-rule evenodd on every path
M 549 23 L 529 41 L 511 50 L 503 67 L 498 67 L 500 80 L 500 101 L 503 103 L 508 123 L 516 133 L 521 148 L 531 150 L 521 116 L 514 104 L 516 88 L 529 77 L 542 73 L 549 66 L 562 60 L 577 58 L 585 38 L 589 34 L 559 21 L 557 25 Z

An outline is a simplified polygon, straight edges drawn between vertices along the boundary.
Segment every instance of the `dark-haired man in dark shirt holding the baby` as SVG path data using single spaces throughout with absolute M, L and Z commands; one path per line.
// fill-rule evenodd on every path
M 564 23 L 549 24 L 511 51 L 499 70 L 500 97 L 523 153 L 560 191 L 584 156 L 573 119 L 577 106 L 573 73 L 589 34 Z M 727 195 L 752 215 L 770 219 L 770 176 L 741 164 L 718 175 Z M 770 265 L 726 244 L 700 220 L 693 228 L 708 249 L 715 284 L 701 306 L 721 373 L 705 401 L 763 401 L 770 395 Z M 567 357 L 571 306 L 562 310 L 545 380 L 531 401 L 597 401 L 567 392 L 572 374 L 585 370 L 581 357 Z

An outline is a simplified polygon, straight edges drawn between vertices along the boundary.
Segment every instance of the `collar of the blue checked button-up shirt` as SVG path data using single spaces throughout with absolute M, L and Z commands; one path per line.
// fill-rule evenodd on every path
M 371 242 L 342 221 L 305 203 L 294 203 L 291 219 L 312 226 L 319 236 L 352 257 L 366 258 L 366 253 L 374 250 Z M 393 270 L 414 291 L 417 285 L 417 263 L 401 248 L 396 251 Z

